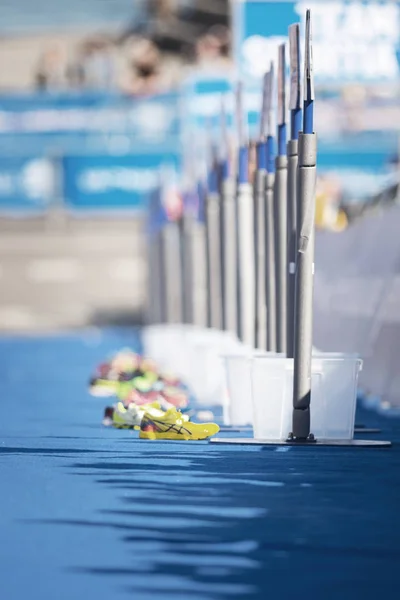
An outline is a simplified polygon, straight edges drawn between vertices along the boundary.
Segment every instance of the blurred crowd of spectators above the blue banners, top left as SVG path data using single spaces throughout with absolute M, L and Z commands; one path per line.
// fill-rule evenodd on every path
M 85 39 L 72 49 L 43 50 L 34 74 L 37 90 L 120 90 L 151 94 L 173 89 L 190 68 L 229 69 L 231 34 L 223 19 L 193 23 L 176 12 L 177 0 L 148 3 L 148 18 L 119 36 Z M 185 3 L 183 3 L 185 4 Z M 193 9 L 193 1 L 187 4 Z M 186 20 L 185 20 L 186 19 Z

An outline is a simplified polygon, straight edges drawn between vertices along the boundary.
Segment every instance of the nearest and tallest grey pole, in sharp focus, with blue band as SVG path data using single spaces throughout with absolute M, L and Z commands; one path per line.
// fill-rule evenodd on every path
M 311 361 L 314 279 L 314 227 L 317 139 L 313 133 L 314 85 L 310 11 L 306 13 L 303 131 L 299 135 L 298 246 L 296 256 L 293 433 L 310 439 Z M 313 439 L 313 436 L 311 436 Z

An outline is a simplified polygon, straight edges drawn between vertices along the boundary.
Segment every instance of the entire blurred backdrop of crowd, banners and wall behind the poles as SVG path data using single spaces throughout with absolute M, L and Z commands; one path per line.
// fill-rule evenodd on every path
M 317 224 L 339 235 L 399 195 L 397 2 L 0 1 L 1 330 L 143 320 L 160 167 L 183 181 L 188 139 L 204 162 L 238 76 L 255 135 L 260 77 L 306 8 Z

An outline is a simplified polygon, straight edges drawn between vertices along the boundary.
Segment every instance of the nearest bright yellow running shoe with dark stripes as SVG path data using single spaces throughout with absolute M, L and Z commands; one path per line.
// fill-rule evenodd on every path
M 142 440 L 205 440 L 219 431 L 215 423 L 191 423 L 171 408 L 162 417 L 146 412 L 140 425 L 139 437 Z

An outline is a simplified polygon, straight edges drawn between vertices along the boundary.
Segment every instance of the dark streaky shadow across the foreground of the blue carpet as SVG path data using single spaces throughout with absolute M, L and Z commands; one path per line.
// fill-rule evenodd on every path
M 289 598 L 299 585 L 327 599 L 393 592 L 397 449 L 127 442 L 132 452 L 120 458 L 70 465 L 110 488 L 118 508 L 43 524 L 111 529 L 130 564 L 73 572 L 114 579 L 134 598 Z

